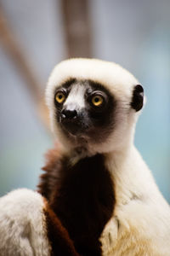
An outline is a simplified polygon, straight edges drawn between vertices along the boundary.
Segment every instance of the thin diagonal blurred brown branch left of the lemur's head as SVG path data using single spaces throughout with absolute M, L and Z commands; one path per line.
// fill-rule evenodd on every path
M 31 96 L 37 104 L 38 113 L 45 125 L 48 125 L 48 110 L 44 104 L 40 90 L 40 79 L 37 79 L 33 67 L 29 63 L 24 50 L 18 40 L 15 38 L 14 32 L 8 26 L 6 15 L 0 5 L 0 43 L 3 44 L 3 48 L 8 53 L 9 57 L 14 61 L 14 65 L 18 67 L 20 74 L 26 80 L 28 89 L 31 92 Z

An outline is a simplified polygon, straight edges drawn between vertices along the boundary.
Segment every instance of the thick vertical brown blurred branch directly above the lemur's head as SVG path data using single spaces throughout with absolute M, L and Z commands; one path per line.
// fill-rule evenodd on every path
M 88 0 L 61 0 L 68 57 L 92 57 Z

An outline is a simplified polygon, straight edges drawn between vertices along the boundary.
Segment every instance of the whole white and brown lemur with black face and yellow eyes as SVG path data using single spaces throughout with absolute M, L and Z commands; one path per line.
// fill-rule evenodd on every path
M 39 194 L 0 199 L 4 208 L 11 198 L 22 202 L 13 213 L 17 224 L 29 214 L 23 223 L 35 255 L 169 256 L 170 207 L 133 144 L 144 105 L 139 81 L 113 62 L 70 59 L 54 67 L 46 101 L 58 143 Z

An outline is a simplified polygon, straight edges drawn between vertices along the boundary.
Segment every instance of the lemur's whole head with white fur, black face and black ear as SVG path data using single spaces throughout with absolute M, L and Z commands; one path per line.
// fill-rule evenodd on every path
M 60 98 L 62 96 L 65 97 L 65 102 L 63 102 L 62 106 L 61 104 L 57 106 L 55 104 L 57 91 L 62 94 L 58 94 Z M 79 124 L 84 125 L 83 131 L 81 126 L 80 130 L 82 132 L 79 132 L 80 130 L 78 129 L 74 130 L 76 132 L 72 132 L 70 127 L 67 129 L 67 126 L 60 125 L 62 123 L 61 117 L 65 117 L 62 112 L 63 108 L 66 108 L 71 115 L 75 115 L 75 113 L 77 114 L 78 111 L 82 111 L 85 108 L 89 110 L 90 107 L 88 105 L 92 105 L 92 102 L 90 102 L 92 101 L 92 96 L 89 96 L 91 98 L 87 100 L 87 91 L 90 91 L 89 94 L 97 91 L 97 96 L 100 95 L 99 91 L 101 91 L 102 101 L 105 102 L 104 105 L 112 104 L 113 106 L 104 106 L 105 113 L 102 113 L 102 110 L 99 112 L 97 108 L 94 110 L 98 116 L 97 123 L 99 123 L 100 113 L 101 115 L 103 114 L 103 118 L 105 117 L 105 127 L 102 127 L 102 129 L 98 130 L 96 125 L 93 130 L 91 126 L 94 121 L 91 122 L 90 120 L 85 131 L 84 119 L 88 115 L 83 112 L 83 119 L 81 116 L 81 121 L 79 120 Z M 110 97 L 112 97 L 112 100 Z M 133 141 L 136 119 L 139 115 L 139 110 L 143 106 L 143 89 L 131 73 L 116 63 L 95 59 L 70 59 L 62 61 L 54 67 L 48 79 L 46 101 L 50 110 L 53 131 L 65 150 L 83 147 L 87 148 L 92 154 L 106 153 L 111 150 L 119 150 L 125 147 L 129 141 Z M 107 115 L 108 119 L 112 118 L 112 120 L 106 121 Z M 96 120 L 95 114 L 89 114 L 89 116 L 88 120 L 91 118 Z M 73 119 L 73 116 L 71 119 Z M 102 120 L 100 121 L 102 123 Z M 69 122 L 69 125 L 73 124 L 72 120 Z M 66 130 L 69 132 L 66 132 Z M 93 132 L 88 133 L 87 131 Z M 95 136 L 96 134 L 98 136 Z

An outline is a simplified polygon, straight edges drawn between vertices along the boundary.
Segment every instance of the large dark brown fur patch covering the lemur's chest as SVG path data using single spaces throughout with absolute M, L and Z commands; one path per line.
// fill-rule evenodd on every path
M 74 241 L 77 253 L 101 255 L 99 237 L 113 214 L 114 185 L 105 157 L 96 154 L 70 166 L 66 156 L 48 152 L 46 171 L 38 185 L 50 207 Z

